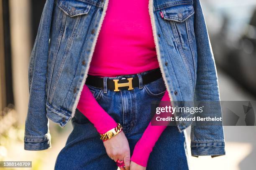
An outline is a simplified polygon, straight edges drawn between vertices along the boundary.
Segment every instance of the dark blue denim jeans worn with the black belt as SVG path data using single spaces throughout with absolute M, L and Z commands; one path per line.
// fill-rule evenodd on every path
M 166 90 L 163 78 L 143 85 L 141 75 L 149 71 L 137 75 L 104 78 L 106 82 L 107 79 L 138 76 L 140 85 L 134 90 L 114 92 L 107 89 L 106 83 L 104 83 L 104 89 L 88 85 L 100 106 L 123 126 L 131 155 L 134 146 L 151 121 L 151 102 L 161 100 Z M 56 159 L 55 170 L 117 169 L 115 162 L 108 157 L 99 133 L 78 109 L 72 118 L 72 126 L 73 131 Z M 187 148 L 184 132 L 179 133 L 176 126 L 168 126 L 153 148 L 147 170 L 187 169 Z

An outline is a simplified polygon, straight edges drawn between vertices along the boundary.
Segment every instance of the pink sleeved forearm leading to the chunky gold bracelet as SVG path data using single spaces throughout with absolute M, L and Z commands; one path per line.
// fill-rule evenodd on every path
M 77 109 L 92 122 L 100 134 L 116 127 L 115 120 L 99 105 L 87 85 L 83 87 Z

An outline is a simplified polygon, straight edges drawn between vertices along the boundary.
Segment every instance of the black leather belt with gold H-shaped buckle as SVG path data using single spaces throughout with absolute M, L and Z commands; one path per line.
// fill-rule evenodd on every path
M 113 91 L 120 91 L 120 89 L 133 90 L 134 87 L 139 87 L 139 78 L 138 75 L 135 74 L 136 77 L 128 77 L 125 79 L 107 79 L 107 88 Z M 123 75 L 122 77 L 125 77 Z M 150 82 L 158 80 L 162 77 L 160 68 L 156 68 L 145 75 L 141 75 L 143 85 L 146 85 Z M 88 75 L 85 84 L 91 85 L 97 88 L 104 88 L 103 78 L 93 75 Z

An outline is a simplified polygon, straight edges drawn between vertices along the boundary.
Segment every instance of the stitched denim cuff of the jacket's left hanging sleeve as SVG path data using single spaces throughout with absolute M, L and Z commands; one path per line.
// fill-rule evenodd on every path
M 24 137 L 24 149 L 25 150 L 46 150 L 51 148 L 51 136 L 46 135 L 44 137 Z

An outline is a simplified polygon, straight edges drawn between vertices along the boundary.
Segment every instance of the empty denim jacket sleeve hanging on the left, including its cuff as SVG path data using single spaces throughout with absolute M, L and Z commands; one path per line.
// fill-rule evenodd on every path
M 25 150 L 45 150 L 51 147 L 49 120 L 46 117 L 45 103 L 49 36 L 53 7 L 54 0 L 46 0 L 29 62 L 29 103 L 25 123 Z

